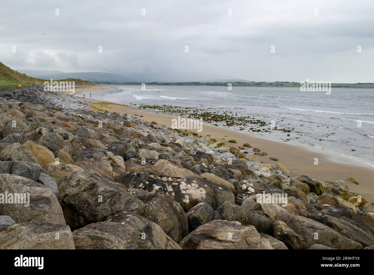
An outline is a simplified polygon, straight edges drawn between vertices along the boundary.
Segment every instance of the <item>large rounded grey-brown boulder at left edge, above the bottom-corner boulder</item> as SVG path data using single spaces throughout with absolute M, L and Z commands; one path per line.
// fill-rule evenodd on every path
M 21 196 L 15 198 L 13 203 L 9 198 L 7 203 L 0 203 L 0 213 L 12 217 L 16 223 L 39 220 L 65 224 L 61 206 L 49 187 L 25 177 L 0 174 L 0 194 L 6 192 L 8 197 Z

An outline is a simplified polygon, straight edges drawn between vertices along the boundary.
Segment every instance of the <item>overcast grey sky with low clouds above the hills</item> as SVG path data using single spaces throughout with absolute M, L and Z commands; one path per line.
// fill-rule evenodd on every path
M 0 5 L 0 61 L 13 69 L 144 73 L 163 81 L 374 82 L 373 0 Z

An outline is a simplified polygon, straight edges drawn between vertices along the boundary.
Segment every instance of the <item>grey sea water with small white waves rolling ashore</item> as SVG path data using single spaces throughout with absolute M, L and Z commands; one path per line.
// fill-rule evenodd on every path
M 374 89 L 332 88 L 331 94 L 326 95 L 300 92 L 296 87 L 109 87 L 93 98 L 137 106 L 165 104 L 230 111 L 266 121 L 269 127 L 274 121 L 278 129 L 291 132 L 253 134 L 306 143 L 374 167 Z

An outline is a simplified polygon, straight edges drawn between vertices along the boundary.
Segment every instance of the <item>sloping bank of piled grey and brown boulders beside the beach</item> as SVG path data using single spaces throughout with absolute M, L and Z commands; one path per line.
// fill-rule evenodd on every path
M 374 248 L 373 202 L 343 180 L 290 177 L 250 140 L 43 87 L 0 101 L 0 249 Z

